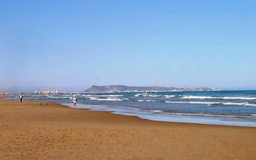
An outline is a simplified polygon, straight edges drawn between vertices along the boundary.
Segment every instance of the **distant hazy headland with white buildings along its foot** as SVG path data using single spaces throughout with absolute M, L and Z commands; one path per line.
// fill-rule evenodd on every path
M 136 87 L 123 85 L 91 86 L 84 93 L 114 93 L 114 92 L 182 92 L 182 91 L 217 91 L 219 88 L 175 88 L 175 87 Z

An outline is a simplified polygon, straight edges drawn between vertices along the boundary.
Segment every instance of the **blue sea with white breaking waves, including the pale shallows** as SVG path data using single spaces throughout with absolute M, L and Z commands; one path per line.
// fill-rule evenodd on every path
M 57 102 L 163 122 L 256 127 L 256 90 L 95 94 L 24 94 L 24 100 Z M 7 100 L 18 100 L 10 95 Z M 44 103 L 45 102 L 45 103 Z

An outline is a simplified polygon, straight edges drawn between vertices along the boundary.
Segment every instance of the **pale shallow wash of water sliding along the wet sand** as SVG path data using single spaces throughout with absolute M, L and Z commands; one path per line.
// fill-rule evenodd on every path
M 64 106 L 73 108 L 72 103 L 60 103 Z M 218 116 L 192 116 L 192 115 L 166 115 L 150 111 L 136 110 L 128 107 L 104 106 L 104 105 L 89 105 L 77 104 L 76 108 L 84 108 L 96 111 L 108 111 L 112 114 L 121 114 L 125 116 L 137 116 L 141 119 L 161 121 L 161 122 L 180 122 L 193 124 L 210 124 L 210 125 L 224 125 L 224 126 L 244 126 L 256 127 L 256 122 L 242 122 L 235 117 L 218 117 Z

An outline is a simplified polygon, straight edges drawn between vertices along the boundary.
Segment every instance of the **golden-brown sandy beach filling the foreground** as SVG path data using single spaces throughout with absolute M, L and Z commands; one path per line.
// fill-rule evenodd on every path
M 256 128 L 0 100 L 1 160 L 254 160 Z

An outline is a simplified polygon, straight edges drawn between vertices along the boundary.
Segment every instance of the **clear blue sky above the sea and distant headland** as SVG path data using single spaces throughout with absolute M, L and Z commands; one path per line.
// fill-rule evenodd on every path
M 256 89 L 255 0 L 2 0 L 0 90 Z

